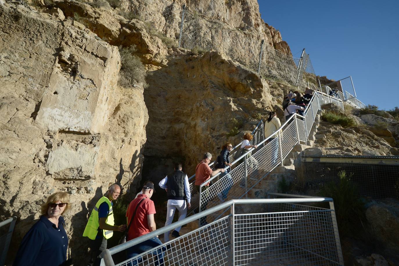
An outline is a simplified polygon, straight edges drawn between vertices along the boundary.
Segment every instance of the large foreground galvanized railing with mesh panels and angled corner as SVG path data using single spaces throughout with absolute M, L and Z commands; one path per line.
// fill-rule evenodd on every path
M 271 198 L 281 196 L 286 198 Z M 313 206 L 315 203 L 323 207 Z M 227 208 L 230 213 L 224 217 L 133 258 L 118 264 L 112 258 L 131 246 Z M 333 200 L 277 193 L 269 193 L 269 199 L 230 200 L 103 252 L 102 265 L 129 266 L 132 262 L 140 266 L 344 264 Z

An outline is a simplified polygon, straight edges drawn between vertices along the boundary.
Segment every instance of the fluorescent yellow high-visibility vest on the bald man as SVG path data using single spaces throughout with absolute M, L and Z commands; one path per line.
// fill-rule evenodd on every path
M 95 240 L 97 233 L 99 230 L 99 226 L 100 226 L 100 220 L 99 220 L 99 207 L 101 205 L 101 203 L 106 202 L 108 203 L 108 207 L 109 207 L 109 211 L 108 211 L 108 217 L 105 220 L 105 223 L 107 223 L 108 225 L 114 225 L 114 213 L 112 211 L 112 205 L 111 205 L 111 201 L 109 201 L 109 199 L 105 196 L 101 197 L 101 199 L 99 199 L 99 201 L 97 201 L 96 206 L 94 207 L 93 211 L 91 211 L 90 217 L 89 217 L 89 221 L 87 222 L 85 231 L 83 232 L 83 236 L 87 236 L 88 238 Z M 105 237 L 105 239 L 110 238 L 113 235 L 113 231 L 112 230 L 103 230 L 103 236 Z

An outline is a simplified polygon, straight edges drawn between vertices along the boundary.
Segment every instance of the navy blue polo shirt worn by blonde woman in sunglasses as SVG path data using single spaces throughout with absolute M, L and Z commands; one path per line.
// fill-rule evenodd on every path
M 59 217 L 58 228 L 45 216 L 25 234 L 14 266 L 59 266 L 67 260 L 68 236 L 64 218 Z

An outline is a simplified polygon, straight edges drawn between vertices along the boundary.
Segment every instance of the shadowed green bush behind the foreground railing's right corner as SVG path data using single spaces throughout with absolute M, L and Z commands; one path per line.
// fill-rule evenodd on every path
M 331 181 L 320 189 L 320 196 L 334 199 L 335 214 L 340 236 L 356 234 L 363 228 L 364 203 L 358 195 L 358 187 L 351 180 L 352 174 L 338 173 L 339 180 Z

